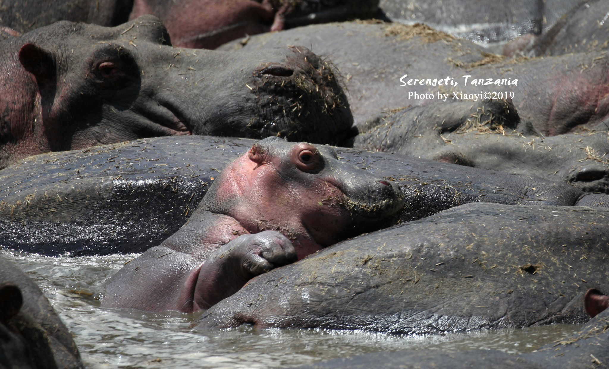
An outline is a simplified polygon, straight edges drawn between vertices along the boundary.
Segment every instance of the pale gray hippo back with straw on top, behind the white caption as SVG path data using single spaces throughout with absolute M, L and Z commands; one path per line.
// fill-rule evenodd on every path
M 415 24 L 342 23 L 303 27 L 252 37 L 243 46 L 233 42 L 220 49 L 254 51 L 290 44 L 311 45 L 331 56 L 345 77 L 356 124 L 381 110 L 437 102 L 438 92 L 480 94 L 513 92 L 521 119 L 546 136 L 602 125 L 609 114 L 609 61 L 604 54 L 574 54 L 506 60 L 481 46 Z M 409 79 L 454 77 L 457 86 L 406 85 Z M 465 85 L 462 76 L 473 76 Z M 518 85 L 471 85 L 473 79 L 518 79 Z M 431 82 L 431 81 L 430 81 Z M 432 93 L 434 100 L 409 93 Z M 492 96 L 491 96 L 492 97 Z M 448 101 L 448 100 L 447 100 Z

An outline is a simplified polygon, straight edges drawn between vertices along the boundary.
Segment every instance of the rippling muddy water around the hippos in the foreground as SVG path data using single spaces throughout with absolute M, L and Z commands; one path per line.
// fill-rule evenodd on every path
M 554 325 L 432 336 L 328 330 L 191 330 L 197 314 L 100 308 L 104 279 L 137 255 L 79 258 L 0 253 L 41 287 L 66 323 L 87 368 L 282 368 L 322 359 L 404 349 L 496 349 L 526 353 L 576 332 Z

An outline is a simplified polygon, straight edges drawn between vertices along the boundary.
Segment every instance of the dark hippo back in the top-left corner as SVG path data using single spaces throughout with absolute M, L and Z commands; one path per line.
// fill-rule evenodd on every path
M 19 33 L 58 21 L 116 26 L 127 21 L 132 6 L 133 0 L 4 0 L 0 26 Z

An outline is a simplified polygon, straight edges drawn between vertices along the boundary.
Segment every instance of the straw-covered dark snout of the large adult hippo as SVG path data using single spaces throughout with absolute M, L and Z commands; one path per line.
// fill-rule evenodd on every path
M 266 113 L 254 114 L 247 127 L 292 142 L 342 142 L 353 116 L 333 66 L 302 46 L 273 52 L 274 60 L 258 65 L 245 87 L 256 111 Z

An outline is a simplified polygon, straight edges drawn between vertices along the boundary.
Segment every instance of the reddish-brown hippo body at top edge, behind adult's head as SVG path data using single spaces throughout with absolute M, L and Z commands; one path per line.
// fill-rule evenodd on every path
M 236 38 L 312 23 L 370 18 L 378 0 L 135 0 L 130 19 L 158 16 L 175 46 L 215 49 Z

